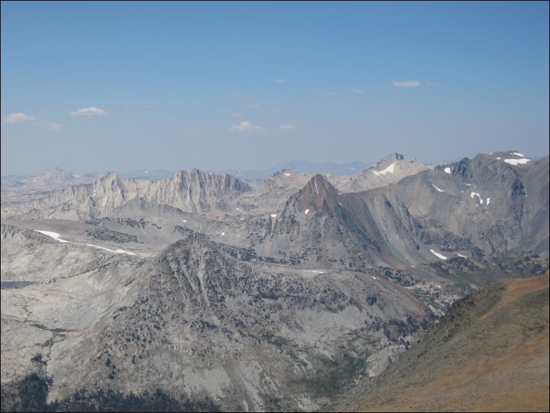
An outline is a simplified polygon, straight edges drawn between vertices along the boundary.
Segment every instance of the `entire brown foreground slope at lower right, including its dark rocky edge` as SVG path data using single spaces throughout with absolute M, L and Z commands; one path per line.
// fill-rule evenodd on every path
M 353 412 L 548 412 L 549 274 L 483 287 L 361 392 Z

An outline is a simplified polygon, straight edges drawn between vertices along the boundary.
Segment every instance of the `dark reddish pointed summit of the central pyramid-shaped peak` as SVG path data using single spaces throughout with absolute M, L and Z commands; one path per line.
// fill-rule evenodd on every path
M 328 213 L 335 215 L 339 204 L 339 195 L 335 187 L 320 174 L 313 176 L 300 189 L 295 198 L 295 207 L 305 211 Z

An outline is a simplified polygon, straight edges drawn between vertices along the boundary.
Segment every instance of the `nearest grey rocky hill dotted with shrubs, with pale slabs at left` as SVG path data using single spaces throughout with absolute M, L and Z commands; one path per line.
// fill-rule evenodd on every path
M 152 259 L 2 231 L 2 381 L 39 353 L 50 398 L 161 388 L 228 410 L 315 410 L 429 318 L 387 279 L 240 261 L 192 231 Z M 51 270 L 27 271 L 23 244 Z

